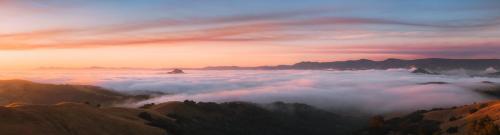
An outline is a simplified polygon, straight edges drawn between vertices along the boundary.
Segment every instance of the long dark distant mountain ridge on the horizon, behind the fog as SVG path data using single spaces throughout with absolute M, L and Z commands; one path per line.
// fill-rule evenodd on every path
M 259 66 L 259 67 L 237 67 L 237 66 L 218 66 L 205 67 L 204 70 L 285 70 L 285 69 L 304 69 L 304 70 L 366 70 L 366 69 L 391 69 L 391 68 L 411 68 L 419 67 L 430 70 L 485 70 L 487 68 L 500 68 L 500 59 L 386 59 L 383 61 L 373 61 L 368 59 L 335 61 L 335 62 L 300 62 L 293 65 L 279 66 Z

